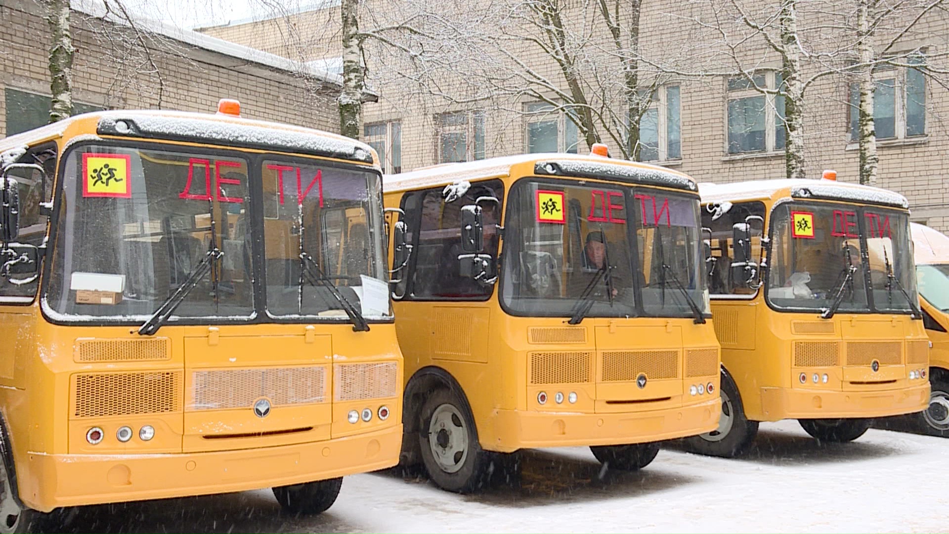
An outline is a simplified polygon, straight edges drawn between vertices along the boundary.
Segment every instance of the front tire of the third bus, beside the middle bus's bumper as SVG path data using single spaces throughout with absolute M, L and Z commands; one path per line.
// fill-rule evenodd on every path
M 722 411 L 718 419 L 718 428 L 698 436 L 685 438 L 682 444 L 689 452 L 735 458 L 748 452 L 748 449 L 752 447 L 754 436 L 758 433 L 758 422 L 749 421 L 745 417 L 741 394 L 735 386 L 735 381 L 727 372 L 721 372 L 721 387 L 718 393 L 721 396 Z

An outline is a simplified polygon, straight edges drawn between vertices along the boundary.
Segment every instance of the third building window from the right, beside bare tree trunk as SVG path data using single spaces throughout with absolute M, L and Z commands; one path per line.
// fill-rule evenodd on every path
M 640 118 L 640 161 L 664 162 L 682 157 L 679 86 L 657 89 Z M 630 153 L 633 147 L 629 147 Z

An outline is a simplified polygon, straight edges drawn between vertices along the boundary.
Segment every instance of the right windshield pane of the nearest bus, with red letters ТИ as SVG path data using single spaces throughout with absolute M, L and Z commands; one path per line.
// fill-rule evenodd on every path
M 379 176 L 312 162 L 265 160 L 264 243 L 270 315 L 348 316 L 326 284 L 301 282 L 301 254 L 317 277 L 367 317 L 389 315 L 382 269 Z

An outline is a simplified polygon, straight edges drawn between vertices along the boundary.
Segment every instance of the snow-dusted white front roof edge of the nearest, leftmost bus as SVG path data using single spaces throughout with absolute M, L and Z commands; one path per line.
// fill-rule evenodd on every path
M 148 135 L 145 136 L 149 139 L 187 141 L 188 138 L 195 137 L 193 129 L 195 124 L 221 124 L 224 127 L 218 128 L 216 132 L 218 134 L 217 136 L 211 136 L 212 132 L 201 128 L 197 130 L 199 132 L 197 137 L 207 138 L 207 140 L 204 141 L 206 143 L 214 143 L 215 141 L 221 143 L 229 141 L 227 139 L 228 134 L 236 136 L 241 130 L 246 133 L 246 128 L 257 128 L 274 132 L 273 138 L 284 136 L 287 138 L 284 139 L 284 141 L 288 141 L 290 137 L 296 136 L 297 139 L 295 141 L 297 141 L 297 143 L 295 144 L 303 145 L 292 146 L 291 144 L 288 146 L 289 148 L 302 148 L 306 146 L 313 149 L 309 152 L 316 153 L 316 155 L 319 156 L 338 157 L 364 163 L 379 161 L 375 150 L 368 144 L 325 130 L 295 124 L 234 117 L 219 113 L 159 109 L 110 109 L 74 115 L 57 123 L 40 126 L 0 140 L 0 152 L 24 144 L 34 144 L 47 139 L 51 140 L 63 137 L 69 126 L 81 121 L 95 121 L 95 131 L 99 135 L 140 138 L 143 137 L 141 133 L 144 132 L 137 132 L 134 128 L 130 131 L 121 132 L 114 128 L 114 125 L 120 121 L 135 124 L 137 119 L 139 122 L 142 122 L 142 120 L 151 122 L 150 126 L 153 131 L 147 132 Z M 189 126 L 192 128 L 189 128 Z M 175 135 L 176 133 L 177 135 Z M 176 137 L 179 139 L 174 139 Z M 270 139 L 272 140 L 273 138 Z M 303 138 L 307 139 L 307 143 L 300 143 Z M 239 141 L 243 142 L 240 143 L 241 147 L 252 148 L 255 144 L 267 144 L 268 138 L 266 136 L 260 136 L 255 139 L 248 139 L 245 136 Z M 280 143 L 271 144 L 278 145 Z M 362 152 L 360 152 L 361 150 Z M 363 156 L 363 153 L 366 156 Z

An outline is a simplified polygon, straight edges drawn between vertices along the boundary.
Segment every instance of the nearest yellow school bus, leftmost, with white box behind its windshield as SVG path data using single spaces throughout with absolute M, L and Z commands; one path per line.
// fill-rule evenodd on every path
M 342 476 L 398 462 L 368 145 L 225 101 L 80 115 L 0 161 L 6 531 L 261 487 L 319 513 Z

